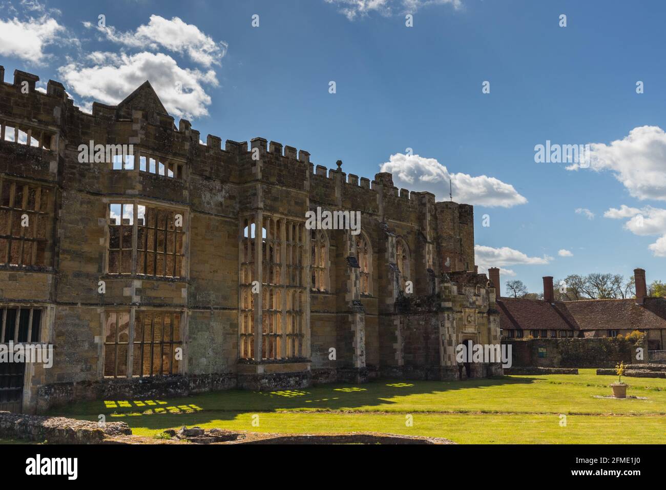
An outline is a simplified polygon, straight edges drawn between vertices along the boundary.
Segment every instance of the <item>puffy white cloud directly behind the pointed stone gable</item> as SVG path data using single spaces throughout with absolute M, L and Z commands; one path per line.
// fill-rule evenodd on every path
M 116 105 L 146 80 L 151 82 L 166 110 L 176 117 L 208 115 L 210 96 L 203 85 L 216 87 L 212 70 L 183 69 L 164 53 L 90 53 L 82 62 L 60 67 L 63 83 L 84 99 Z M 84 101 L 86 103 L 86 101 Z

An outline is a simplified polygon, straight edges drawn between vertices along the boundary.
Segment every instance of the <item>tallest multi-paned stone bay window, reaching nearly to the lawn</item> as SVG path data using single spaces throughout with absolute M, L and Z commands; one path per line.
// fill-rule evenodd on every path
M 260 247 L 258 222 L 262 223 Z M 310 233 L 305 220 L 256 211 L 240 216 L 238 223 L 239 361 L 307 357 Z M 261 260 L 257 261 L 259 250 Z M 266 271 L 270 271 L 268 275 Z M 257 277 L 262 278 L 260 303 L 256 303 L 256 293 L 252 293 L 252 281 Z M 258 308 L 261 325 L 257 325 Z M 257 333 L 260 337 L 256 337 Z M 256 358 L 259 349 L 261 359 Z

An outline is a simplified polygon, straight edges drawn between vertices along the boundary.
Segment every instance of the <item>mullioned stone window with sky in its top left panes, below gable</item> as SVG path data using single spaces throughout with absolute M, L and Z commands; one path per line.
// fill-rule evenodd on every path
M 106 220 L 106 226 L 105 226 L 105 261 L 104 261 L 104 273 L 105 275 L 109 275 L 112 277 L 136 277 L 139 279 L 148 279 L 148 280 L 176 280 L 176 281 L 186 281 L 189 277 L 189 239 L 190 239 L 190 233 L 188 233 L 188 230 L 190 229 L 189 225 L 189 220 L 190 220 L 190 213 L 186 207 L 181 207 L 181 206 L 174 206 L 174 205 L 169 205 L 165 203 L 160 203 L 160 202 L 155 202 L 151 201 L 148 199 L 127 199 L 125 197 L 123 198 L 113 198 L 109 197 L 105 199 L 105 205 L 106 205 L 106 215 L 105 215 L 105 220 Z M 124 214 L 124 207 L 125 205 L 131 205 L 132 206 L 132 223 L 131 225 L 111 225 L 111 205 L 122 205 L 121 207 L 121 223 L 123 221 L 123 214 Z M 160 251 L 148 251 L 145 249 L 139 249 L 139 206 L 143 206 L 145 208 L 151 207 L 158 209 L 159 211 L 166 211 L 168 213 L 173 213 L 174 217 L 176 214 L 182 215 L 182 227 L 180 227 L 180 231 L 176 230 L 176 227 L 174 226 L 174 230 L 172 230 L 172 233 L 174 233 L 174 252 L 168 252 L 166 251 L 166 245 L 164 252 Z M 158 211 L 158 212 L 159 212 Z M 144 213 L 144 220 L 146 219 L 146 212 Z M 157 218 L 156 218 L 157 219 Z M 127 248 L 124 250 L 129 250 L 131 251 L 131 272 L 111 272 L 109 270 L 109 264 L 111 262 L 111 253 L 114 251 L 117 251 L 119 249 L 112 249 L 111 248 L 111 226 L 121 226 L 121 233 L 122 233 L 122 227 L 123 226 L 131 226 L 132 227 L 132 247 L 131 249 Z M 149 237 L 149 229 L 153 229 L 152 227 L 148 227 L 144 221 L 144 235 L 145 235 L 145 241 L 144 243 L 147 243 L 148 237 Z M 162 231 L 162 229 L 157 229 L 157 231 Z M 168 233 L 168 230 L 165 227 L 165 233 Z M 177 241 L 176 239 L 180 236 L 180 241 L 182 243 L 182 253 L 177 253 L 176 248 L 177 247 Z M 121 235 L 122 237 L 122 235 Z M 157 240 L 157 232 L 155 233 L 155 240 Z M 168 243 L 168 237 L 165 239 L 165 244 Z M 123 247 L 123 243 L 119 243 L 121 247 Z M 145 248 L 147 248 L 146 245 L 144 245 Z M 157 248 L 154 242 L 154 248 Z M 144 268 L 143 270 L 146 273 L 139 272 L 139 256 L 143 252 L 143 257 L 144 257 Z M 174 263 L 174 269 L 178 267 L 178 259 L 177 257 L 180 257 L 180 275 L 175 275 L 175 276 L 170 276 L 166 275 L 157 275 L 155 273 L 153 274 L 148 274 L 148 264 L 147 264 L 147 255 L 148 253 L 155 253 L 155 261 L 153 263 L 154 267 L 157 267 L 157 255 L 159 253 L 163 253 L 164 255 L 164 261 L 166 264 L 166 256 L 167 255 L 172 255 L 173 256 L 173 263 Z M 121 257 L 119 258 L 119 271 L 123 270 L 123 265 L 122 265 L 122 252 L 121 252 Z M 164 265 L 166 267 L 166 265 Z M 153 269 L 153 272 L 155 272 L 155 268 Z

